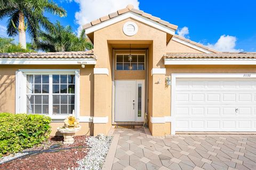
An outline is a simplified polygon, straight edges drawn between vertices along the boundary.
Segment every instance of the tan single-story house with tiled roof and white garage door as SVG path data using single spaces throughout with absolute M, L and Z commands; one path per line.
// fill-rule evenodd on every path
M 0 55 L 0 112 L 73 113 L 78 134 L 148 122 L 153 135 L 256 131 L 256 53 L 221 53 L 128 5 L 84 25 L 87 52 Z

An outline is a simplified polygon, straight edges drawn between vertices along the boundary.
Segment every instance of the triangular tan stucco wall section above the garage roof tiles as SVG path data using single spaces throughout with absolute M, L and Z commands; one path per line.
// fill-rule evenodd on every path
M 201 51 L 185 46 L 176 41 L 171 40 L 166 47 L 166 53 L 202 53 Z

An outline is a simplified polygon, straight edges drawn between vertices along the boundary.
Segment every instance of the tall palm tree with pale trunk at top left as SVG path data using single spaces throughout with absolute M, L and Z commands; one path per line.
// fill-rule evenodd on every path
M 19 44 L 26 49 L 26 30 L 34 41 L 42 27 L 52 30 L 53 24 L 44 16 L 44 12 L 66 16 L 66 10 L 49 0 L 0 0 L 0 20 L 8 17 L 7 34 L 16 36 L 19 33 Z

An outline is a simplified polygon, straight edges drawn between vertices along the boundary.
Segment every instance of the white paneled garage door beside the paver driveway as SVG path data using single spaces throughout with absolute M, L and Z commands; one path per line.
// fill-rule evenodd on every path
M 256 79 L 177 79 L 176 131 L 256 131 Z

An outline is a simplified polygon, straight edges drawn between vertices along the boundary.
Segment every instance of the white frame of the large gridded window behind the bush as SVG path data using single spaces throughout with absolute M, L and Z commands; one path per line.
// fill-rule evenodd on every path
M 79 69 L 20 69 L 16 71 L 15 83 L 15 113 L 27 113 L 26 83 L 27 74 L 75 74 L 75 117 L 80 115 L 80 70 Z M 52 82 L 52 76 L 49 77 L 49 83 Z M 49 87 L 52 89 L 52 87 Z M 51 91 L 51 90 L 50 90 Z M 53 120 L 63 120 L 67 115 L 52 114 L 52 94 L 49 94 L 49 115 Z

